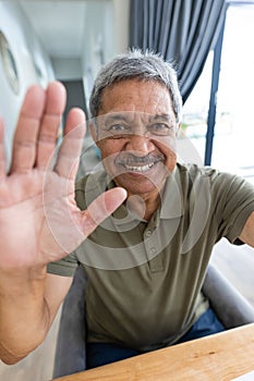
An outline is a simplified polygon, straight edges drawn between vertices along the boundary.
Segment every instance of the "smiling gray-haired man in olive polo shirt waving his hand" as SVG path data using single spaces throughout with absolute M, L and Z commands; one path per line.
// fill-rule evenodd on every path
M 221 237 L 254 246 L 254 189 L 178 162 L 172 66 L 131 51 L 99 72 L 90 132 L 104 169 L 77 182 L 76 204 L 85 116 L 69 113 L 52 159 L 64 103 L 59 83 L 32 87 L 8 174 L 1 145 L 1 359 L 14 364 L 44 341 L 78 263 L 88 368 L 222 331 L 201 288 Z

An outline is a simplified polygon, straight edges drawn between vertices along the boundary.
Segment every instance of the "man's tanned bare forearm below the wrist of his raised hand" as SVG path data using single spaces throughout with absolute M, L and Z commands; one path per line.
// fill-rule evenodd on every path
M 40 272 L 34 274 L 34 279 L 28 273 L 27 279 L 24 273 L 7 276 L 1 274 L 0 278 L 1 303 L 5 309 L 4 315 L 1 315 L 1 332 L 4 331 L 4 335 L 1 335 L 0 358 L 12 365 L 45 340 L 72 278 L 53 274 L 41 276 Z

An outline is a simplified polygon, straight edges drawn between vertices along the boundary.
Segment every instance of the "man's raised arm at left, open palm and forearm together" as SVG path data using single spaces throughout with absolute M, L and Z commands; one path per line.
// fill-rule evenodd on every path
M 28 89 L 9 173 L 0 118 L 0 355 L 9 364 L 41 343 L 70 286 L 70 279 L 47 275 L 47 263 L 72 253 L 126 196 L 114 188 L 78 209 L 74 181 L 85 115 L 70 111 L 55 158 L 64 106 L 60 83 Z

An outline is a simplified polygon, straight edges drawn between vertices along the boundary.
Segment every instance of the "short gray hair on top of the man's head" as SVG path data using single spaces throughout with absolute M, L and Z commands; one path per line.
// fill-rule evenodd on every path
M 102 91 L 121 81 L 137 78 L 138 81 L 158 81 L 165 85 L 172 98 L 177 122 L 182 116 L 182 97 L 180 95 L 177 72 L 161 56 L 152 51 L 131 50 L 117 56 L 98 73 L 90 94 L 89 109 L 92 118 L 98 115 L 101 107 Z

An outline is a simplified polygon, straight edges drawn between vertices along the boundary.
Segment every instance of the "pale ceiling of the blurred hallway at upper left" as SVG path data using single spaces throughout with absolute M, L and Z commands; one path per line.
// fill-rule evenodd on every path
M 99 17 L 110 0 L 21 0 L 23 11 L 51 57 L 78 57 L 84 49 L 86 20 L 99 7 Z

